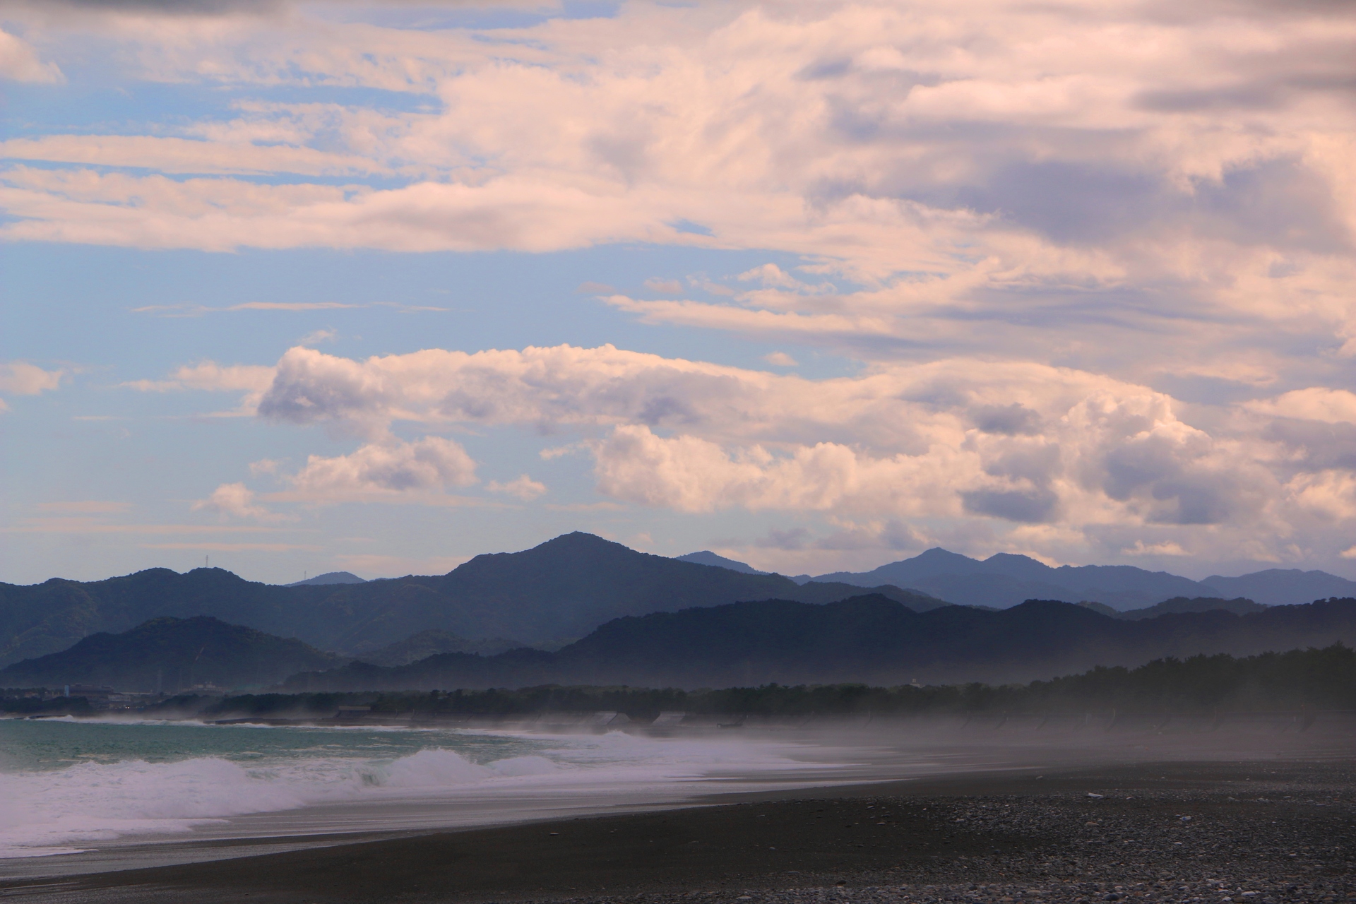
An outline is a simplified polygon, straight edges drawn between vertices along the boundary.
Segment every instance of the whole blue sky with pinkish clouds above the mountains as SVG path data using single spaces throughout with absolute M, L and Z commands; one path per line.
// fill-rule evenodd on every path
M 0 580 L 1356 577 L 1356 5 L 0 0 Z

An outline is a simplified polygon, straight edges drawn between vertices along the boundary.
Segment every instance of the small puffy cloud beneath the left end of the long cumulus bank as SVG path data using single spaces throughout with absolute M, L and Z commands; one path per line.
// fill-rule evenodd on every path
M 396 495 L 469 487 L 476 462 L 450 439 L 424 436 L 412 443 L 366 445 L 347 455 L 311 455 L 292 485 L 313 501 L 365 495 Z

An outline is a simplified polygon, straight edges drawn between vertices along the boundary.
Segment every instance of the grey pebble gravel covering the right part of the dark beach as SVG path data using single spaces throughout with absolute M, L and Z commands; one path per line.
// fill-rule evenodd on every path
M 717 888 L 555 897 L 576 904 L 895 901 L 1356 901 L 1349 764 L 1258 766 L 1231 782 L 1048 794 L 835 801 L 858 825 L 923 819 L 959 850 L 999 850 L 838 874 L 785 870 Z M 1069 785 L 1066 779 L 1062 782 Z M 868 809 L 869 808 L 869 809 Z M 881 828 L 884 827 L 884 828 Z M 917 824 L 911 827 L 917 831 Z M 1003 850 L 1006 848 L 1006 850 Z M 519 899 L 521 900 L 521 899 Z M 546 899 L 541 899 L 546 900 Z

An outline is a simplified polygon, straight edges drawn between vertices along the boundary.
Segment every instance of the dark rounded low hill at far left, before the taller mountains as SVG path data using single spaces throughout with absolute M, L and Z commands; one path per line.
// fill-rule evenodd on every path
M 111 684 L 175 693 L 195 683 L 267 686 L 297 671 L 346 660 L 296 638 L 216 618 L 156 618 L 121 634 L 98 633 L 71 649 L 0 670 L 0 686 Z

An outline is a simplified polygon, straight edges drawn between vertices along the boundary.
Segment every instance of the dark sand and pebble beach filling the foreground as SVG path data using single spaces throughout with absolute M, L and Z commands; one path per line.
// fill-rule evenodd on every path
M 0 897 L 50 904 L 1356 900 L 1356 759 L 965 775 L 711 802 L 9 881 L 0 882 Z

